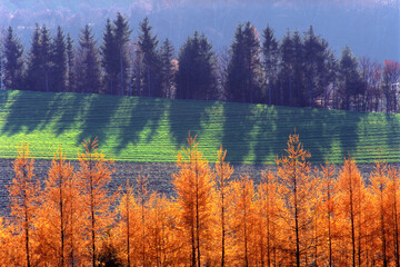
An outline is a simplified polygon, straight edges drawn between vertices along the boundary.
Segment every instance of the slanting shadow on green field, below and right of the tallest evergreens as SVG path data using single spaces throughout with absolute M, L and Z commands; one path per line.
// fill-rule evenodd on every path
M 163 116 L 169 100 L 160 98 L 127 98 L 124 105 L 120 107 L 126 116 L 120 119 L 120 134 L 117 138 L 116 151 L 119 154 L 129 144 L 138 144 L 141 138 L 150 141 L 157 135 L 159 121 Z M 150 129 L 150 134 L 141 136 L 144 128 Z

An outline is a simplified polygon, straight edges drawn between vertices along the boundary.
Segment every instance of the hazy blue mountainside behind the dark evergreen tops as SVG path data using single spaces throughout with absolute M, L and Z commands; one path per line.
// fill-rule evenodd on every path
M 1 0 L 0 26 L 14 27 L 29 43 L 36 22 L 52 32 L 60 24 L 73 38 L 89 23 L 101 41 L 106 19 L 117 11 L 130 19 L 133 39 L 148 16 L 159 38 L 170 38 L 176 48 L 198 30 L 219 51 L 229 47 L 238 23 L 250 20 L 260 32 L 270 24 L 279 39 L 312 24 L 338 55 L 349 46 L 357 57 L 400 61 L 399 0 Z

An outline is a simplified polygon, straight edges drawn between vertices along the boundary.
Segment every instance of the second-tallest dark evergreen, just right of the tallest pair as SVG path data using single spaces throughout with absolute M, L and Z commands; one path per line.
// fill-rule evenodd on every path
M 151 29 L 152 27 L 149 26 L 149 19 L 146 18 L 140 23 L 137 57 L 142 59 L 142 71 L 137 79 L 140 79 L 140 89 L 143 96 L 161 97 L 161 60 L 157 52 L 157 36 L 151 34 Z

